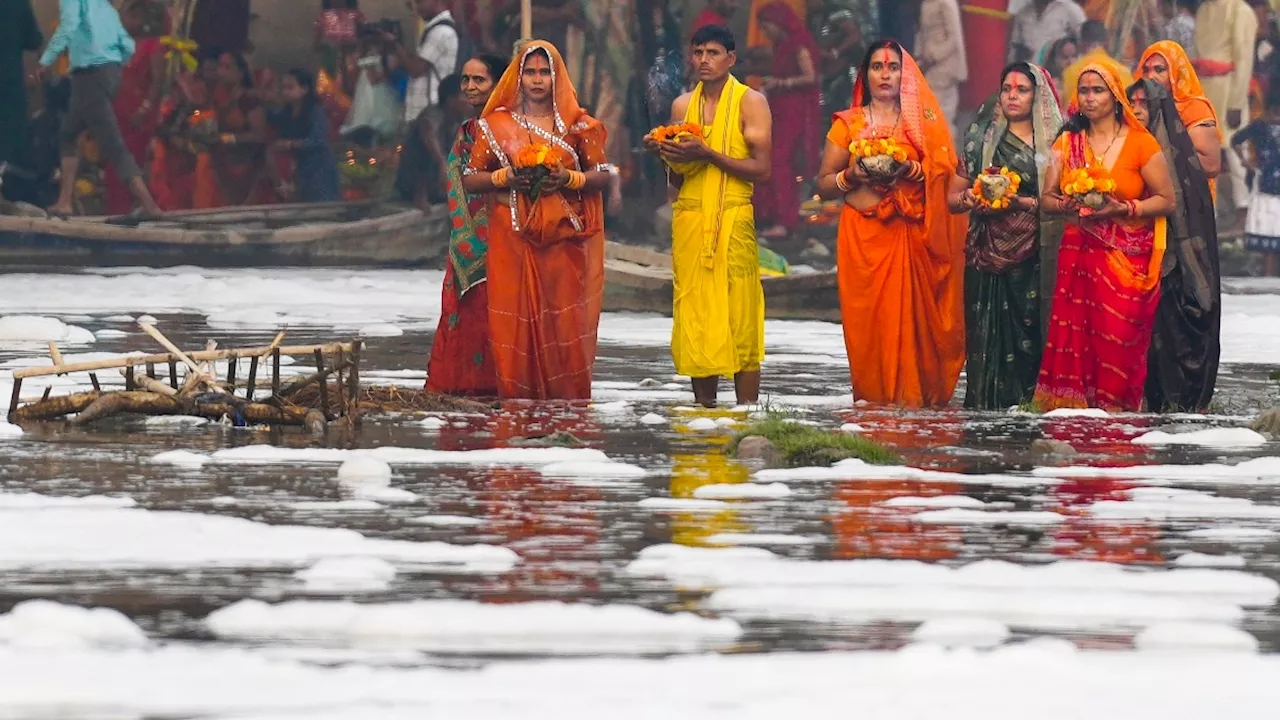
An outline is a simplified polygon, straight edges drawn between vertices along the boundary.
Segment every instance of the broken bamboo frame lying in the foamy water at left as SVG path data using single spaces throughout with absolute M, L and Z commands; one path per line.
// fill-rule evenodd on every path
M 13 396 L 9 421 L 15 424 L 58 420 L 74 415 L 73 425 L 86 425 L 113 415 L 195 415 L 211 420 L 230 418 L 236 424 L 302 425 L 323 429 L 326 423 L 344 420 L 358 424 L 361 411 L 360 354 L 361 341 L 323 345 L 282 345 L 279 333 L 265 347 L 219 350 L 210 341 L 205 350 L 184 352 L 154 325 L 140 327 L 156 340 L 166 352 L 131 355 L 88 363 L 65 363 L 55 343 L 50 343 L 52 366 L 27 368 L 13 373 Z M 302 378 L 282 382 L 280 357 L 308 357 L 315 372 Z M 248 359 L 248 375 L 237 378 L 239 360 Z M 218 377 L 216 361 L 225 360 L 227 372 Z M 259 369 L 270 363 L 270 395 L 259 392 Z M 165 377 L 156 368 L 168 369 Z M 124 389 L 104 391 L 97 373 L 118 370 L 124 375 Z M 182 372 L 180 372 L 182 370 Z M 22 384 L 27 378 L 88 373 L 92 391 L 51 397 L 51 388 L 38 398 L 23 398 Z M 168 382 L 163 382 L 168 380 Z M 264 384 L 266 384 L 264 382 Z M 243 395 L 237 395 L 243 389 Z M 265 392 L 265 388 L 264 388 Z

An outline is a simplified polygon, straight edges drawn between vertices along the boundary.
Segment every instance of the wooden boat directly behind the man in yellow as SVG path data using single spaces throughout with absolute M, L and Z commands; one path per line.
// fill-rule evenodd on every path
M 604 309 L 671 315 L 671 255 L 607 242 Z M 764 314 L 777 320 L 840 322 L 836 272 L 764 278 Z

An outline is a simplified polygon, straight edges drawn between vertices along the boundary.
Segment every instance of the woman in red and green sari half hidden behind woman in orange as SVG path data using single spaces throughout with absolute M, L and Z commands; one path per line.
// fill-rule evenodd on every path
M 507 63 L 483 55 L 462 65 L 462 95 L 475 111 L 484 109 Z M 498 375 L 489 347 L 489 284 L 485 260 L 489 250 L 489 211 L 483 195 L 462 188 L 462 172 L 471 161 L 477 119 L 462 123 L 449 151 L 449 261 L 440 291 L 440 324 L 426 364 L 426 389 L 448 395 L 492 397 Z

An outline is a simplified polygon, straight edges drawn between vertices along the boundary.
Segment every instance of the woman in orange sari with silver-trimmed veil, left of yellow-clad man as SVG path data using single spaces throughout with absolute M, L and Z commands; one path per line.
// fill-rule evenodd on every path
M 480 115 L 463 177 L 489 202 L 489 328 L 498 395 L 591 397 L 604 297 L 605 129 L 577 104 L 559 51 L 532 41 Z M 544 155 L 534 183 L 517 165 Z

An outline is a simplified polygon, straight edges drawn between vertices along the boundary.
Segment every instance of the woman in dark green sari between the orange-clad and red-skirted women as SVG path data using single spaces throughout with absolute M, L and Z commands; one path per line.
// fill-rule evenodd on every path
M 1005 68 L 1000 94 L 965 133 L 964 161 L 948 197 L 952 213 L 972 214 L 965 246 L 965 407 L 1004 410 L 1036 395 L 1062 240 L 1061 220 L 1039 211 L 1039 190 L 1061 126 L 1048 73 L 1015 63 Z M 975 192 L 974 179 L 1001 169 L 1016 174 L 1019 186 L 1007 206 L 993 208 L 989 200 L 997 193 Z

